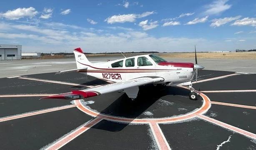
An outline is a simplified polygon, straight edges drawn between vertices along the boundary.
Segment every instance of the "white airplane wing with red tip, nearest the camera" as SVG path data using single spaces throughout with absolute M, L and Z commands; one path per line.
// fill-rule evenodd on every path
M 106 94 L 106 93 L 115 92 L 115 91 L 122 91 L 132 87 L 138 87 L 141 85 L 162 82 L 163 80 L 164 79 L 162 77 L 140 77 L 140 78 L 124 81 L 124 82 L 116 82 L 108 85 L 96 86 L 96 87 L 91 87 L 84 90 L 77 90 L 69 93 L 63 93 L 63 94 L 53 95 L 53 96 L 43 97 L 43 98 L 70 99 L 70 100 L 85 99 L 88 97 L 95 97 L 100 94 Z

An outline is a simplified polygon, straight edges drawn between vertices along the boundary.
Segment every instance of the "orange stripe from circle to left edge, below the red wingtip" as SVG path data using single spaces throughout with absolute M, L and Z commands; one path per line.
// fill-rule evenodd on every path
M 28 113 L 24 113 L 24 114 L 18 114 L 18 115 L 14 115 L 14 116 L 6 116 L 3 118 L 0 118 L 0 122 L 24 118 L 24 117 L 28 117 L 28 116 L 34 116 L 34 115 L 38 115 L 38 114 L 44 114 L 44 113 L 48 113 L 48 112 L 52 112 L 52 111 L 68 109 L 68 108 L 72 108 L 75 106 L 76 106 L 75 104 L 72 104 L 72 105 L 66 105 L 66 106 L 54 107 L 54 108 L 50 108 L 50 109 L 43 109 L 43 110 L 39 110 L 39 111 L 28 112 Z

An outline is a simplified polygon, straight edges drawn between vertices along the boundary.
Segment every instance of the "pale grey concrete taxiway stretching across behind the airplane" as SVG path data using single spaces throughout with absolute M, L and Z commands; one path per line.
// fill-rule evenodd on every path
M 120 57 L 88 57 L 92 62 L 116 60 Z M 166 58 L 165 58 L 166 59 Z M 195 63 L 194 58 L 167 58 L 174 62 Z M 207 70 L 256 73 L 256 60 L 253 59 L 198 59 L 198 63 Z M 38 73 L 52 73 L 76 68 L 75 58 L 67 59 L 34 59 L 0 61 L 0 78 Z

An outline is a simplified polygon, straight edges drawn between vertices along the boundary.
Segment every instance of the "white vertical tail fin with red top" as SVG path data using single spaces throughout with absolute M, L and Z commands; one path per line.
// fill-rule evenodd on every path
M 91 65 L 90 61 L 86 58 L 85 54 L 83 53 L 80 47 L 74 49 L 75 54 L 75 62 L 77 68 L 85 68 Z

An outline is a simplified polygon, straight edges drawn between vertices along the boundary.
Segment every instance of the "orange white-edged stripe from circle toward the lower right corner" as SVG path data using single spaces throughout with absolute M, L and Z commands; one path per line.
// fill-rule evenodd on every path
M 214 123 L 214 124 L 216 124 L 216 125 L 218 125 L 218 126 L 222 126 L 223 128 L 227 128 L 227 129 L 229 129 L 229 130 L 231 130 L 231 131 L 234 131 L 234 132 L 240 133 L 240 134 L 242 134 L 242 135 L 245 135 L 245 136 L 247 136 L 247 137 L 249 137 L 249 138 L 254 138 L 254 139 L 256 139 L 256 134 L 251 133 L 251 132 L 248 132 L 248 131 L 245 131 L 245 130 L 243 130 L 243 129 L 241 129 L 241 128 L 237 128 L 237 127 L 235 127 L 235 126 L 231 126 L 231 125 L 229 125 L 229 124 L 227 124 L 227 123 L 223 123 L 223 122 L 221 122 L 221 121 L 212 119 L 212 118 L 207 117 L 207 116 L 204 116 L 204 115 L 202 115 L 202 114 L 198 114 L 198 117 L 201 118 L 201 119 L 203 119 L 203 120 L 206 120 L 206 121 L 209 121 L 209 122 L 211 122 L 211 123 Z

